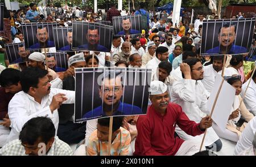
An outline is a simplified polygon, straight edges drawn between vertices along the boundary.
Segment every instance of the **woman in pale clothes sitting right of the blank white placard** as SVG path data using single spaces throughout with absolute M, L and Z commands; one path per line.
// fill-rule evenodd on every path
M 233 142 L 238 142 L 242 130 L 245 129 L 247 123 L 243 123 L 241 127 L 238 127 L 236 123 L 240 120 L 241 115 L 243 116 L 243 118 L 245 118 L 247 122 L 249 122 L 254 116 L 249 112 L 249 110 L 246 109 L 246 106 L 243 102 L 240 106 L 240 102 L 242 101 L 242 97 L 240 96 L 240 93 L 242 91 L 242 82 L 240 78 L 230 78 L 228 79 L 228 83 L 236 89 L 236 97 L 232 106 L 232 110 L 230 111 L 226 129 L 225 131 L 221 131 L 215 123 L 213 123 L 212 127 L 220 138 L 228 139 Z

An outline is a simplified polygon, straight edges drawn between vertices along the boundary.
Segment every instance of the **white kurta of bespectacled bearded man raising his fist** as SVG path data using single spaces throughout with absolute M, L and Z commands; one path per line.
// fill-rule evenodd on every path
M 172 85 L 171 101 L 179 104 L 187 114 L 188 118 L 196 123 L 199 123 L 206 114 L 209 114 L 209 111 L 207 110 L 207 91 L 200 80 L 177 80 Z M 175 131 L 184 140 L 191 139 L 201 142 L 204 136 L 204 134 L 195 137 L 190 136 L 179 127 L 177 127 Z M 216 132 L 210 127 L 207 130 L 204 145 L 208 146 L 213 144 L 218 139 Z

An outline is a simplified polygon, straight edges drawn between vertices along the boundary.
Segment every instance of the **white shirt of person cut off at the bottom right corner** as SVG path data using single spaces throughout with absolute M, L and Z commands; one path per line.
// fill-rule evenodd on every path
M 238 155 L 245 149 L 251 147 L 253 145 L 254 134 L 256 132 L 256 117 L 253 117 L 251 121 L 248 122 L 245 129 L 242 131 L 242 135 L 240 136 L 234 155 Z

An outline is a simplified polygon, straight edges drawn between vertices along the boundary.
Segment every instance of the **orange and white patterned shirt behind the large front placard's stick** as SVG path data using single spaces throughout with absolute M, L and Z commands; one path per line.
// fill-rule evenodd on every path
M 127 156 L 129 153 L 129 146 L 131 143 L 130 132 L 120 127 L 120 132 L 117 134 L 111 145 L 112 156 Z M 86 146 L 86 155 L 89 156 L 108 156 L 108 143 L 101 142 L 97 138 L 97 129 L 90 135 L 88 144 Z

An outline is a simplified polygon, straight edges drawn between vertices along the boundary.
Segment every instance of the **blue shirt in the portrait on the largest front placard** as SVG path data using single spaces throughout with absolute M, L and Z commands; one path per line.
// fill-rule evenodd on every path
M 103 112 L 103 113 L 102 113 Z M 119 106 L 116 112 L 113 113 L 113 115 L 133 115 L 133 114 L 142 114 L 141 108 L 138 106 L 133 106 L 130 104 L 119 102 Z M 93 109 L 90 112 L 85 113 L 82 118 L 93 118 L 93 117 L 106 117 L 102 105 L 98 106 L 96 109 Z

